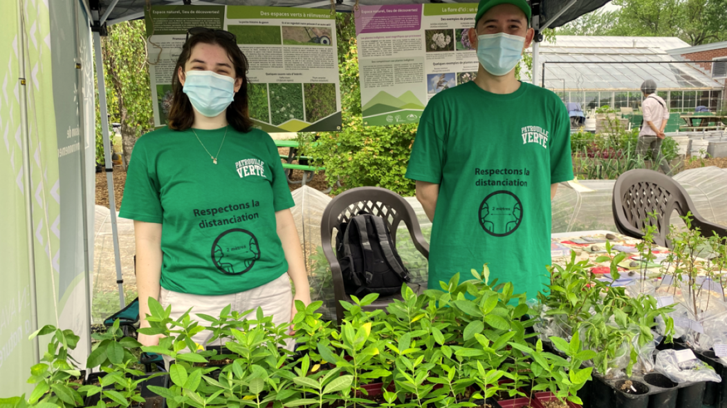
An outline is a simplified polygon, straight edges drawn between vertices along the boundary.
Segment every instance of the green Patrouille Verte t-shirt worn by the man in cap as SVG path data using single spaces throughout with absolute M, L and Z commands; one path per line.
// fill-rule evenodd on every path
M 441 91 L 422 113 L 409 179 L 440 184 L 429 287 L 459 272 L 513 282 L 534 298 L 550 264 L 550 184 L 573 179 L 570 121 L 553 92 L 522 83 L 492 94 L 474 82 Z

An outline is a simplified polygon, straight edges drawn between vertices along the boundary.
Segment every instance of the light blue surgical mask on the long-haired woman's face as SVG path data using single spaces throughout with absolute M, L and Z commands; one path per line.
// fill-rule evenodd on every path
M 235 78 L 212 71 L 187 71 L 182 91 L 197 112 L 214 118 L 227 109 L 235 98 Z

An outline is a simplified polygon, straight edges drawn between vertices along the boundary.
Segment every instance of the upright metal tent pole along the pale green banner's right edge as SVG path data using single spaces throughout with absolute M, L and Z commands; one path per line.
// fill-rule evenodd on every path
M 76 24 L 76 81 L 78 89 L 79 89 L 79 144 L 81 145 L 81 149 L 79 149 L 79 152 L 81 152 L 81 225 L 83 226 L 83 234 L 84 237 L 84 280 L 85 285 L 84 288 L 86 290 L 86 340 L 87 340 L 87 352 L 90 355 L 91 354 L 91 265 L 89 261 L 89 230 L 88 230 L 88 203 L 87 203 L 87 189 L 86 189 L 86 171 L 87 171 L 87 165 L 86 165 L 86 142 L 84 141 L 84 138 L 86 137 L 86 118 L 85 118 L 85 110 L 84 110 L 84 102 L 86 101 L 86 98 L 84 97 L 84 71 L 83 69 L 89 69 L 89 67 L 84 67 L 83 64 L 85 61 L 81 61 L 81 47 L 80 47 L 80 41 L 81 41 L 81 33 L 79 33 L 79 4 L 76 3 L 76 6 L 73 7 L 73 22 Z M 85 22 L 86 26 L 88 26 L 88 22 Z M 96 138 L 93 139 L 94 144 L 96 142 Z M 95 149 L 94 149 L 95 151 Z

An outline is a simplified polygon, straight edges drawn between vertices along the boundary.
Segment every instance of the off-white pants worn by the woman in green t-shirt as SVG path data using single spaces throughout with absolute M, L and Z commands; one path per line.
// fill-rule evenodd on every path
M 161 303 L 164 309 L 172 305 L 172 314 L 169 317 L 174 320 L 192 308 L 190 318 L 196 320 L 198 325 L 205 327 L 209 326 L 210 323 L 205 319 L 197 317 L 197 313 L 219 317 L 222 309 L 225 309 L 225 306 L 228 305 L 232 306 L 230 311 L 238 312 L 262 307 L 262 313 L 266 317 L 273 316 L 273 323 L 280 325 L 281 323 L 290 322 L 292 319 L 290 314 L 293 305 L 293 292 L 290 287 L 288 274 L 282 274 L 281 277 L 273 280 L 273 282 L 266 283 L 251 290 L 246 290 L 245 292 L 230 295 L 190 295 L 188 293 L 172 292 L 162 287 L 161 293 L 159 293 L 159 303 Z M 254 319 L 255 313 L 253 312 L 250 316 Z M 192 340 L 201 346 L 205 346 L 210 338 L 212 338 L 212 332 L 203 330 L 194 335 Z M 287 348 L 292 350 L 293 345 L 293 339 L 289 339 Z M 164 362 L 167 366 L 169 365 L 168 359 L 164 359 Z

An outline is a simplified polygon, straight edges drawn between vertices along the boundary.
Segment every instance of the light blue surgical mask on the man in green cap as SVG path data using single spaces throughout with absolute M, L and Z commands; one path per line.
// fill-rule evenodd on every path
M 477 36 L 477 59 L 482 68 L 494 76 L 503 76 L 518 65 L 523 56 L 525 38 L 507 33 Z

